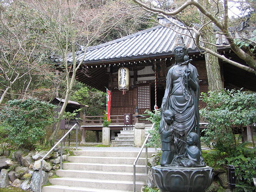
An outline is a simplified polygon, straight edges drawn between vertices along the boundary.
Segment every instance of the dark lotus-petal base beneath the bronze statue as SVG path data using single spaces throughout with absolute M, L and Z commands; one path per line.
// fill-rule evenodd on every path
M 153 179 L 160 192 L 204 192 L 213 182 L 213 168 L 155 166 Z

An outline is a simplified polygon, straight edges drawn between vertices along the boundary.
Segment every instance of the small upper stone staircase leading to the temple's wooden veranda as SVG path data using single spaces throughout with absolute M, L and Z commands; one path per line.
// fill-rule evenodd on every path
M 147 137 L 148 130 L 152 127 L 152 124 L 146 124 L 145 125 L 145 130 L 146 134 L 145 136 Z M 134 129 L 134 126 L 133 126 Z M 120 131 L 120 133 L 117 134 L 117 137 L 115 137 L 115 140 L 112 140 L 111 146 L 116 147 L 116 146 L 133 146 L 134 145 L 134 131 L 132 130 L 123 130 Z

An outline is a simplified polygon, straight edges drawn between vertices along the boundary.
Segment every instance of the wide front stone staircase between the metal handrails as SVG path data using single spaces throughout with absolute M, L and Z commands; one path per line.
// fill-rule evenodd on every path
M 148 152 L 150 157 L 153 152 Z M 132 192 L 133 162 L 138 151 L 74 151 L 69 163 L 50 178 L 43 192 Z M 136 164 L 136 192 L 146 181 L 145 152 Z

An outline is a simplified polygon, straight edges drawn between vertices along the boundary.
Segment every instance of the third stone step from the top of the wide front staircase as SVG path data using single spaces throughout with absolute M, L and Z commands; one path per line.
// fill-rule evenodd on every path
M 100 163 L 63 163 L 63 169 L 93 170 L 111 172 L 133 172 L 133 165 Z M 136 165 L 136 173 L 144 173 L 145 165 Z

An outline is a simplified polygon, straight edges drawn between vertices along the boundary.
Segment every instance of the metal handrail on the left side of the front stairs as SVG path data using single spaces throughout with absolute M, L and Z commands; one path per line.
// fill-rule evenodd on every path
M 39 192 L 42 192 L 42 173 L 43 173 L 43 160 L 44 158 L 49 155 L 49 153 L 52 152 L 52 150 L 61 142 L 60 144 L 60 169 L 62 169 L 62 140 L 69 134 L 69 132 L 76 127 L 76 144 L 75 144 L 75 150 L 77 150 L 77 135 L 78 135 L 78 130 L 77 130 L 77 123 L 75 123 L 75 125 L 73 125 L 72 128 L 69 129 L 69 131 L 52 147 L 52 149 L 50 149 L 48 151 L 48 153 L 46 155 L 43 156 L 43 158 L 40 160 L 41 161 L 41 166 L 40 166 L 40 188 L 39 188 Z

